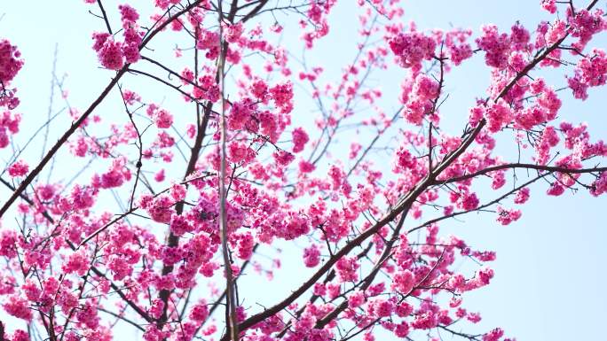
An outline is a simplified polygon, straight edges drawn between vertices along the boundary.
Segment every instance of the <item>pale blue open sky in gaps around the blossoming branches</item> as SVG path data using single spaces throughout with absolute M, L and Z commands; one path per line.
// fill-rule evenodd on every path
M 107 8 L 115 8 L 114 1 L 106 3 Z M 356 31 L 349 28 L 352 20 L 356 20 L 353 3 L 341 0 L 335 7 L 331 15 L 331 33 L 319 43 L 318 50 L 325 49 L 327 53 L 311 56 L 311 65 L 316 62 L 329 71 L 332 68 L 339 70 L 343 66 L 343 56 L 353 56 L 359 42 Z M 411 0 L 405 2 L 406 20 L 415 20 L 420 29 L 453 26 L 477 31 L 484 23 L 495 23 L 501 30 L 509 30 L 516 20 L 531 24 L 532 28 L 540 19 L 550 18 L 540 10 L 539 3 L 539 0 Z M 579 1 L 576 4 L 582 5 Z M 604 3 L 601 4 L 604 7 Z M 97 97 L 110 75 L 97 68 L 90 48 L 91 32 L 103 29 L 103 23 L 86 13 L 89 7 L 82 1 L 36 1 L 27 6 L 35 8 L 26 8 L 23 2 L 16 1 L 5 1 L 0 7 L 0 15 L 4 13 L 0 19 L 0 37 L 18 45 L 26 60 L 15 81 L 22 101 L 19 112 L 24 116 L 22 134 L 33 131 L 46 120 L 55 44 L 59 46 L 58 74 L 68 74 L 67 89 L 75 107 L 83 109 Z M 593 45 L 604 49 L 607 47 L 605 42 L 602 35 Z M 480 62 L 481 58 L 477 57 L 450 74 L 447 80 L 446 89 L 451 95 L 443 112 L 445 117 L 453 117 L 445 120 L 453 120 L 456 131 L 461 130 L 461 119 L 467 115 L 475 97 L 485 93 L 489 75 Z M 398 91 L 400 81 L 395 74 L 378 82 L 390 92 Z M 562 78 L 555 82 L 556 87 L 564 84 Z M 564 99 L 561 117 L 575 123 L 586 121 L 594 139 L 607 137 L 605 89 L 591 90 L 586 102 L 572 99 L 569 92 L 559 94 L 563 94 Z M 159 93 L 159 96 L 163 94 Z M 114 109 L 102 105 L 96 113 L 103 116 L 104 110 Z M 68 123 L 66 119 L 59 125 Z M 39 153 L 38 150 L 35 152 Z M 508 151 L 505 153 L 512 155 Z M 0 154 L 0 158 L 5 158 L 4 154 Z M 70 169 L 73 166 L 56 167 Z M 469 244 L 494 250 L 498 255 L 493 263 L 496 274 L 493 282 L 482 290 L 468 293 L 465 306 L 470 311 L 483 313 L 480 323 L 483 329 L 500 326 L 508 336 L 519 341 L 600 339 L 607 316 L 607 294 L 603 285 L 607 279 L 604 275 L 607 196 L 592 198 L 580 190 L 575 195 L 567 192 L 559 198 L 548 198 L 543 194 L 545 190 L 543 183 L 532 187 L 532 197 L 524 206 L 522 219 L 508 227 L 493 221 L 493 215 L 471 215 L 464 221 L 442 225 L 442 234 L 462 236 Z M 4 198 L 5 193 L 0 190 L 0 197 Z M 288 257 L 283 260 L 283 265 L 287 264 Z M 288 283 L 301 283 L 300 277 L 294 275 L 296 268 L 284 267 L 277 273 L 277 281 L 264 286 L 266 294 L 276 292 L 274 289 L 280 291 L 280 288 L 288 291 L 292 287 Z M 259 292 L 258 288 L 255 292 Z M 269 297 L 269 302 L 275 301 Z M 4 320 L 3 314 L 0 311 L 1 320 Z M 115 339 L 126 338 L 118 336 Z

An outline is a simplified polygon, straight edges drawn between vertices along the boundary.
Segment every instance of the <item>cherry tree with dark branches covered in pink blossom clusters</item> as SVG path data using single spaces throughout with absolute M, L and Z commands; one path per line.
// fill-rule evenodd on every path
M 116 323 L 146 341 L 511 340 L 466 331 L 481 318 L 466 293 L 496 256 L 441 223 L 522 219 L 534 182 L 607 192 L 607 145 L 559 118 L 562 94 L 607 81 L 604 2 L 543 0 L 551 21 L 477 33 L 407 23 L 398 0 L 359 0 L 359 27 L 331 25 L 336 0 L 85 2 L 70 15 L 98 20 L 85 62 L 108 80 L 78 108 L 54 75 L 65 130 L 20 131 L 39 120 L 20 112 L 28 56 L 0 37 L 0 340 L 118 340 Z M 305 58 L 329 29 L 358 50 L 332 79 Z M 488 89 L 441 110 L 475 58 Z M 371 85 L 385 72 L 398 96 Z M 239 288 L 281 266 L 301 275 L 287 294 Z

